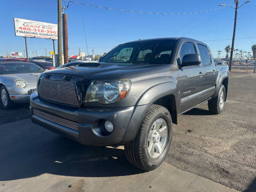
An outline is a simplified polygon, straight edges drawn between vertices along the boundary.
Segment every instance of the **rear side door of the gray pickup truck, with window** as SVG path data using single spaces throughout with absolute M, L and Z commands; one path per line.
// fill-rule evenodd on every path
M 211 58 L 210 51 L 207 46 L 197 44 L 199 54 L 201 55 L 201 66 L 204 81 L 204 94 L 201 95 L 203 100 L 210 98 L 215 92 L 217 71 L 215 63 Z

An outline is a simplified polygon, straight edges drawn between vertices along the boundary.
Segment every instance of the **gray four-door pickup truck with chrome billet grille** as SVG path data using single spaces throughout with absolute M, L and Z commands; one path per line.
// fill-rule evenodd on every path
M 177 116 L 207 101 L 220 114 L 228 66 L 189 38 L 139 40 L 116 46 L 99 62 L 75 61 L 38 76 L 32 122 L 83 145 L 124 145 L 130 163 L 161 165 Z

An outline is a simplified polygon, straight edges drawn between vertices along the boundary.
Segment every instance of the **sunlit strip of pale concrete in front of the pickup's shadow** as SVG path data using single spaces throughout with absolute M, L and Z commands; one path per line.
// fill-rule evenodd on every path
M 113 167 L 114 169 L 114 167 Z M 172 192 L 235 192 L 198 175 L 181 171 L 164 163 L 157 170 L 121 177 L 63 177 L 42 174 L 13 181 L 0 181 L 0 191 L 172 191 Z M 4 185 L 4 186 L 2 186 Z

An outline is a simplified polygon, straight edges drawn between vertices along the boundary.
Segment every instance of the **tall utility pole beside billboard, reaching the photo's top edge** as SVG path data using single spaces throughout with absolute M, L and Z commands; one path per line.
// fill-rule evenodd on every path
M 61 47 L 61 0 L 58 0 L 58 55 L 59 62 L 57 66 L 62 65 L 62 47 Z

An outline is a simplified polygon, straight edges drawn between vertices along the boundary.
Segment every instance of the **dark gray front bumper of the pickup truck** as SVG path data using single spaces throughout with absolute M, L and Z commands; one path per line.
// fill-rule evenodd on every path
M 93 108 L 81 107 L 78 109 L 65 108 L 49 104 L 32 94 L 30 98 L 30 115 L 33 123 L 39 124 L 48 130 L 75 140 L 83 145 L 111 146 L 122 145 L 135 138 L 147 106 Z M 78 130 L 70 129 L 33 114 L 33 109 L 43 111 L 58 118 L 78 123 Z M 144 113 L 145 111 L 145 113 Z M 143 115 L 144 114 L 144 115 Z M 108 120 L 114 125 L 114 131 L 102 135 L 104 122 Z M 131 123 L 132 122 L 132 123 Z

